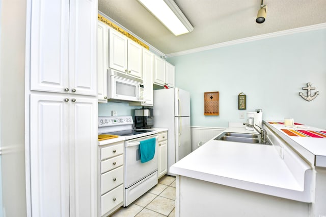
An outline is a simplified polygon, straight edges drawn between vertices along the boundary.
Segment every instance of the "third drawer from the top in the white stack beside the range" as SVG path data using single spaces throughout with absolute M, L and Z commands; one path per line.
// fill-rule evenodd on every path
M 101 195 L 123 183 L 123 166 L 101 175 Z

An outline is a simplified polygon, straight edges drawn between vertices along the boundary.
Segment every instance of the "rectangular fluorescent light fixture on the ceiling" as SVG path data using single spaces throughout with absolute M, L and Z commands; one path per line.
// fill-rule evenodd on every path
M 173 0 L 138 0 L 174 35 L 181 35 L 194 30 Z

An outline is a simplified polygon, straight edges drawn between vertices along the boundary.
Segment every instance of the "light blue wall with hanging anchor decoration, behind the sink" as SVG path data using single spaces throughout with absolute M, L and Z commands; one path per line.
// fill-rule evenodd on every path
M 326 128 L 326 30 L 314 30 L 171 57 L 176 86 L 191 94 L 192 126 L 227 127 L 239 119 L 237 96 L 247 95 L 247 112 L 263 119 Z M 310 102 L 298 92 L 308 82 L 319 91 Z M 204 92 L 220 92 L 220 115 L 205 116 Z M 247 117 L 246 117 L 247 118 Z

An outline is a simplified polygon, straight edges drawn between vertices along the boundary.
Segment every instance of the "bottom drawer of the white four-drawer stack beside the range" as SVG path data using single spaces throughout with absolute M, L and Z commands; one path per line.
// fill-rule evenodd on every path
M 123 185 L 101 196 L 101 216 L 123 203 Z

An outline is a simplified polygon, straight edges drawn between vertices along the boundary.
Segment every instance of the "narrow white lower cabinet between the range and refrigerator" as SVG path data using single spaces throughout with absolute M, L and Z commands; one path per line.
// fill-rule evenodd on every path
M 158 133 L 158 179 L 168 173 L 168 132 Z

